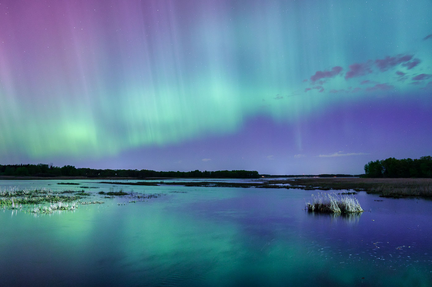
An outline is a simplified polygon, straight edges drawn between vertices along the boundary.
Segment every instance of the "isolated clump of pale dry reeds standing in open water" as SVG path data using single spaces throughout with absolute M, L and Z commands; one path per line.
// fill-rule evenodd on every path
M 352 195 L 338 197 L 333 193 L 321 193 L 317 196 L 312 194 L 312 202 L 306 203 L 308 211 L 323 213 L 356 213 L 363 212 L 359 201 Z

